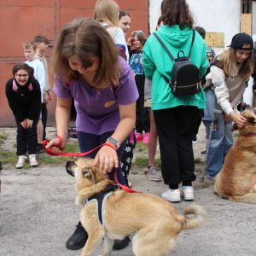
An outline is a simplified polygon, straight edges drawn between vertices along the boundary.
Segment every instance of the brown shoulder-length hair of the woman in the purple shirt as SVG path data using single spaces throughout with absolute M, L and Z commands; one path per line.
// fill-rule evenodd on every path
M 73 55 L 84 68 L 92 65 L 91 57 L 100 58 L 100 67 L 92 81 L 97 84 L 96 88 L 107 89 L 111 82 L 119 85 L 119 50 L 107 30 L 96 20 L 79 18 L 62 27 L 55 43 L 53 73 L 60 76 L 63 82 L 78 81 L 81 77 L 69 66 L 68 59 Z

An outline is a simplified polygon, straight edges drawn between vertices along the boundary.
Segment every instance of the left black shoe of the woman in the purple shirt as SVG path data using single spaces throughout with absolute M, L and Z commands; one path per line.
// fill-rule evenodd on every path
M 84 230 L 84 227 L 80 222 L 76 227 L 77 228 L 73 232 L 73 235 L 70 236 L 66 242 L 67 249 L 79 250 L 84 247 L 88 239 L 87 232 Z

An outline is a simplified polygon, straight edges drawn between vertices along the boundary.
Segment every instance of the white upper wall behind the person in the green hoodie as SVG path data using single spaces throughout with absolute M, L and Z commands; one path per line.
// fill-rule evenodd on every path
M 150 32 L 154 32 L 160 17 L 161 2 L 149 0 Z M 187 0 L 187 3 L 195 19 L 195 26 L 202 26 L 207 32 L 224 32 L 225 47 L 240 32 L 241 0 Z M 217 54 L 221 49 L 214 48 Z

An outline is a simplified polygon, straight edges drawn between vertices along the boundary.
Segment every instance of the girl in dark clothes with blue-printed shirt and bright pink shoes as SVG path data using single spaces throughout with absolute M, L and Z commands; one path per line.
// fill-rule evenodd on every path
M 133 73 L 136 74 L 135 81 L 137 84 L 137 90 L 139 92 L 139 98 L 136 102 L 136 140 L 137 143 L 143 141 L 143 143 L 148 143 L 148 138 L 150 134 L 150 118 L 147 108 L 144 108 L 144 84 L 145 84 L 145 74 L 143 71 L 143 48 L 146 43 L 147 38 L 144 33 L 139 30 L 131 33 L 131 38 L 127 41 L 127 46 L 130 55 L 130 66 Z M 133 45 L 136 49 L 131 49 Z M 143 137 L 143 131 L 145 132 L 145 137 Z

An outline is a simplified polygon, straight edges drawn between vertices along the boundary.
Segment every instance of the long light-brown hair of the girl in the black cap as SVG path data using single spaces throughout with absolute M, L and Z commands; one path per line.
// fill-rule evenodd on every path
M 236 52 L 237 49 L 230 47 L 228 50 L 214 58 L 214 61 L 218 63 L 218 67 L 222 68 L 225 77 L 230 76 L 230 68 L 236 68 Z M 219 61 L 218 61 L 219 60 Z M 241 63 L 241 67 L 238 71 L 238 76 L 245 82 L 253 73 L 253 52 L 250 52 L 248 58 Z

